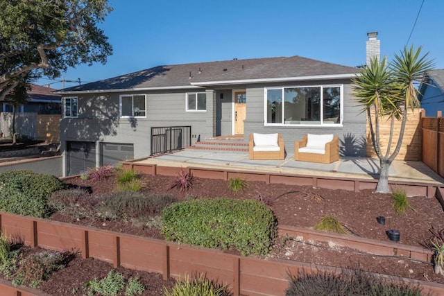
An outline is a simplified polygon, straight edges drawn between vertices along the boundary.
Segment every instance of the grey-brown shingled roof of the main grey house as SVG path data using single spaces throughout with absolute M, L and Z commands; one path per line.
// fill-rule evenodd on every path
M 126 75 L 62 89 L 61 93 L 125 91 L 137 89 L 183 89 L 203 85 L 242 82 L 351 78 L 359 72 L 298 55 L 286 58 L 226 60 L 153 67 Z

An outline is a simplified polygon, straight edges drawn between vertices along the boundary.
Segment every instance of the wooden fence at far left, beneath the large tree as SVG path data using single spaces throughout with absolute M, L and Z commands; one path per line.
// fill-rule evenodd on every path
M 17 113 L 15 132 L 31 139 L 60 143 L 61 118 L 60 114 Z M 12 136 L 12 113 L 1 113 L 0 130 L 3 132 L 3 137 Z

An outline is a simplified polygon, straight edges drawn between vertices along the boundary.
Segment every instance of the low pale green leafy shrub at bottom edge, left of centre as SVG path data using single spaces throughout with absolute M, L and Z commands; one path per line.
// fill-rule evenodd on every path
M 87 295 L 103 295 L 114 296 L 121 295 L 125 290 L 126 296 L 142 295 L 144 293 L 144 286 L 138 279 L 131 277 L 126 281 L 125 277 L 117 271 L 111 270 L 108 276 L 103 279 L 93 279 L 85 284 L 87 288 Z M 126 287 L 126 288 L 125 288 Z

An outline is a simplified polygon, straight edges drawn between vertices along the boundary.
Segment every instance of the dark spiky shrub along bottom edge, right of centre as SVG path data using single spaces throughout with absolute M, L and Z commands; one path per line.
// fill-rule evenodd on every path
M 390 279 L 382 279 L 359 269 L 341 270 L 341 273 L 336 275 L 322 270 L 307 272 L 302 269 L 298 277 L 290 275 L 290 284 L 285 295 L 420 296 L 424 294 L 419 286 L 408 286 Z

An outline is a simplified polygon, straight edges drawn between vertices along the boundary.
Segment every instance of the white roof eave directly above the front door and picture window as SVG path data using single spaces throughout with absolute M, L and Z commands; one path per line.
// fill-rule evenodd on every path
M 191 82 L 195 86 L 207 85 L 241 85 L 246 83 L 261 83 L 261 82 L 287 82 L 287 81 L 304 81 L 304 80 L 329 80 L 329 79 L 350 79 L 354 78 L 358 73 L 348 74 L 334 74 L 334 75 L 316 75 L 316 76 L 299 76 L 299 77 L 280 77 L 280 78 L 257 78 L 257 79 L 239 79 L 239 80 L 216 80 L 204 82 Z

